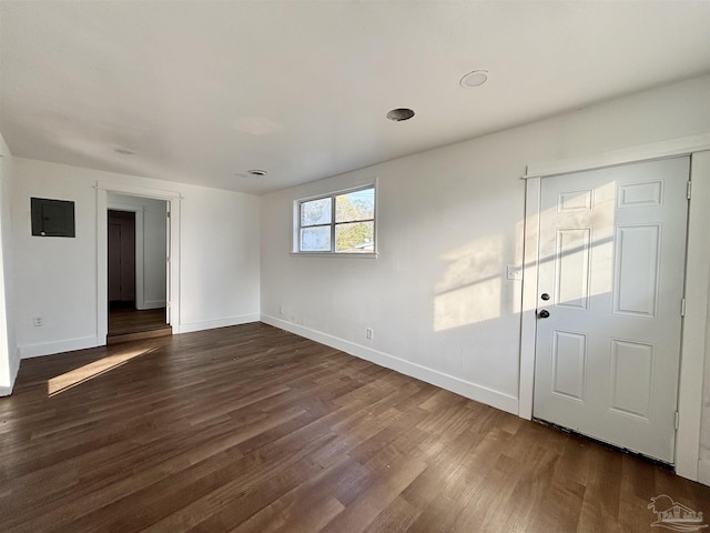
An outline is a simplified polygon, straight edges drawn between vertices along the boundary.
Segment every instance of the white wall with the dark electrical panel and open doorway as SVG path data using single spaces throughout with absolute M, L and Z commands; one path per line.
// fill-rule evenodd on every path
M 22 356 L 103 342 L 97 335 L 98 181 L 182 195 L 180 331 L 258 320 L 257 197 L 22 158 L 14 163 L 14 316 Z M 77 238 L 31 237 L 31 197 L 74 201 Z M 33 316 L 43 325 L 33 326 Z

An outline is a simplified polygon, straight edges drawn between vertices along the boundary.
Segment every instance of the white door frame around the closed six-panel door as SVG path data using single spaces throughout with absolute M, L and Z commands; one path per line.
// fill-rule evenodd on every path
M 691 157 L 692 199 L 688 214 L 686 286 L 692 290 L 686 291 L 686 315 L 681 329 L 674 467 L 678 475 L 698 481 L 703 366 L 708 350 L 706 340 L 710 333 L 710 243 L 707 241 L 707 228 L 710 227 L 710 133 L 527 165 L 527 173 L 523 177 L 526 180 L 526 194 L 518 415 L 527 420 L 532 418 L 541 180 L 551 175 L 681 155 Z

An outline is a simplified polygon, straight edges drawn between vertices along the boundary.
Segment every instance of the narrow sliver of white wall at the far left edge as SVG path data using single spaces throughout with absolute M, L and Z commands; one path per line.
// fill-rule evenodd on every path
M 20 368 L 12 284 L 12 154 L 0 134 L 0 395 L 12 392 Z

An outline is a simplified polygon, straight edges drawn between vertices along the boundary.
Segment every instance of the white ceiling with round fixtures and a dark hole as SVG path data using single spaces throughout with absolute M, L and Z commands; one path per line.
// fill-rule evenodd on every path
M 0 3 L 14 155 L 251 193 L 708 71 L 707 0 Z

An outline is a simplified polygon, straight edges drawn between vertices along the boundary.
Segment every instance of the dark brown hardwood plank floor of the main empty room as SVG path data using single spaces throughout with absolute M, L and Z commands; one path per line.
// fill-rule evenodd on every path
M 22 361 L 3 532 L 650 532 L 710 487 L 264 324 Z M 706 520 L 707 523 L 707 520 Z

